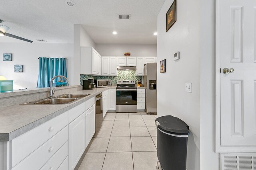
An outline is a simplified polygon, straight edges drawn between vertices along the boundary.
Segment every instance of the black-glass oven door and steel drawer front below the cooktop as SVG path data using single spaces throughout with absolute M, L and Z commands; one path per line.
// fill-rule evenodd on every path
M 116 112 L 137 112 L 137 89 L 116 89 Z

